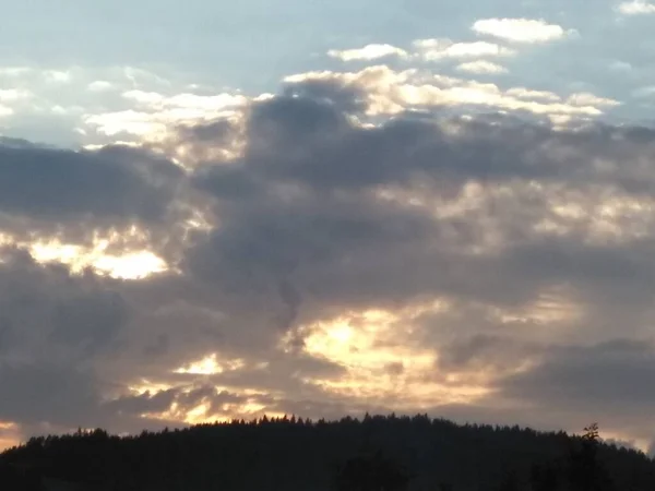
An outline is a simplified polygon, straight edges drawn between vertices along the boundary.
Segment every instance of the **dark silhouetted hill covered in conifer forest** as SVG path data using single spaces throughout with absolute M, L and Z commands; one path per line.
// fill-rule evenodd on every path
M 653 460 L 602 443 L 595 427 L 583 438 L 427 416 L 80 431 L 0 455 L 0 489 L 45 489 L 44 477 L 98 491 L 655 491 Z

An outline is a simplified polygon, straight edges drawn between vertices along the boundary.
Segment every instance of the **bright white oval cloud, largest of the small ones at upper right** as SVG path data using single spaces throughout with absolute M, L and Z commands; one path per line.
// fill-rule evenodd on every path
M 526 44 L 548 43 L 573 33 L 560 25 L 533 19 L 484 19 L 476 21 L 472 28 L 477 34 Z

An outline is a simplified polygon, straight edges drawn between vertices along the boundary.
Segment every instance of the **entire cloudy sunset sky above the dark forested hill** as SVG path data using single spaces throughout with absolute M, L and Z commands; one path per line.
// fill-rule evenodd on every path
M 0 448 L 395 411 L 655 450 L 655 3 L 0 11 Z

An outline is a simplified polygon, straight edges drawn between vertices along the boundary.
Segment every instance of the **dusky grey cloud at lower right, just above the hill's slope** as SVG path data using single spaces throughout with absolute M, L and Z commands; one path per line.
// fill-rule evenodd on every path
M 646 415 L 655 406 L 651 391 L 655 350 L 650 342 L 616 338 L 553 346 L 544 356 L 536 367 L 499 381 L 493 397 L 508 408 L 523 407 L 532 415 L 526 423 L 543 421 L 550 428 L 580 430 L 586 419 L 598 421 L 606 431 L 634 439 L 650 436 L 644 434 Z

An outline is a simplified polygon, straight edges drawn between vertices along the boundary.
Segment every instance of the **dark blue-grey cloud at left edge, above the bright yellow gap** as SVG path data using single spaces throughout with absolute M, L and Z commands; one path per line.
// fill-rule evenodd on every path
M 61 224 L 160 220 L 181 171 L 128 147 L 72 152 L 0 145 L 0 213 Z

